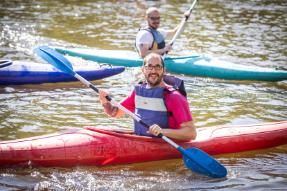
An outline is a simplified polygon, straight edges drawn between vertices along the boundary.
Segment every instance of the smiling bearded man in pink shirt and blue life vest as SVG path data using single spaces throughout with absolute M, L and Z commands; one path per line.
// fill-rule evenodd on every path
M 141 120 L 152 125 L 148 130 L 134 120 L 134 134 L 158 136 L 162 133 L 178 140 L 194 140 L 196 130 L 189 103 L 180 91 L 164 82 L 166 68 L 162 57 L 157 53 L 150 53 L 144 58 L 141 71 L 146 77 L 146 83 L 135 85 L 132 93 L 120 102 Z M 99 94 L 108 115 L 118 118 L 125 114 L 107 101 L 105 96 L 110 96 L 109 92 L 100 89 Z

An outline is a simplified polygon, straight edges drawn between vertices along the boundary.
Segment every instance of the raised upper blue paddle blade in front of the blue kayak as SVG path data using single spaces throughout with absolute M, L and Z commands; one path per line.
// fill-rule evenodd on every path
M 67 58 L 55 51 L 53 48 L 48 46 L 40 46 L 35 48 L 33 52 L 42 57 L 42 59 L 46 60 L 46 62 L 49 62 L 49 64 L 52 64 L 56 69 L 71 75 L 76 75 L 69 60 L 67 60 Z

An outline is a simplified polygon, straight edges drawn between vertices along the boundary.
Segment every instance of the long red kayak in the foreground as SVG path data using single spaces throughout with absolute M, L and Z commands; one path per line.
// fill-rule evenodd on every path
M 132 131 L 68 129 L 55 134 L 0 142 L 0 165 L 33 161 L 44 167 L 113 165 L 171 158 L 182 153 L 162 138 L 134 135 Z M 266 149 L 287 144 L 287 121 L 254 125 L 198 128 L 196 140 L 173 140 L 184 148 L 207 154 Z

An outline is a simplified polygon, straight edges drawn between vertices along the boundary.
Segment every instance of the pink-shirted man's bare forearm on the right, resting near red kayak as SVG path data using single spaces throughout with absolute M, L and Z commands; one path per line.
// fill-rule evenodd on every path
M 162 129 L 162 134 L 168 138 L 177 140 L 195 140 L 196 138 L 196 130 L 189 127 L 184 127 L 182 129 Z

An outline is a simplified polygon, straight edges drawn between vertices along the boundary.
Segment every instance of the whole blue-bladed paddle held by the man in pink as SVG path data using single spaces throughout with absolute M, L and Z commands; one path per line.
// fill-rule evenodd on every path
M 78 78 L 78 80 L 86 84 L 87 87 L 90 87 L 94 89 L 94 91 L 98 92 L 98 89 L 96 87 L 94 87 L 91 83 L 87 82 L 87 80 L 74 72 L 73 66 L 71 65 L 69 60 L 67 60 L 64 56 L 60 55 L 60 53 L 58 53 L 57 51 L 53 50 L 52 48 L 49 48 L 48 46 L 40 46 L 38 48 L 35 48 L 33 52 L 37 55 L 40 55 L 40 57 L 46 60 L 46 62 L 49 62 L 50 64 L 55 66 L 55 68 L 75 76 L 76 78 Z M 139 117 L 135 116 L 134 113 L 128 111 L 128 109 L 125 109 L 125 107 L 123 107 L 121 104 L 112 100 L 112 98 L 110 98 L 109 96 L 107 96 L 106 98 L 116 107 L 119 107 L 122 111 L 127 113 L 130 117 L 134 118 L 134 120 L 137 120 L 137 122 L 141 123 L 141 125 L 147 127 L 148 129 L 150 128 L 150 125 L 141 120 Z M 212 176 L 216 178 L 222 178 L 227 175 L 226 168 L 202 150 L 197 148 L 184 149 L 179 145 L 175 144 L 172 140 L 170 140 L 163 134 L 159 134 L 159 137 L 163 138 L 164 140 L 166 140 L 167 143 L 171 144 L 177 150 L 182 152 L 186 167 L 200 174 L 205 174 L 207 176 Z

